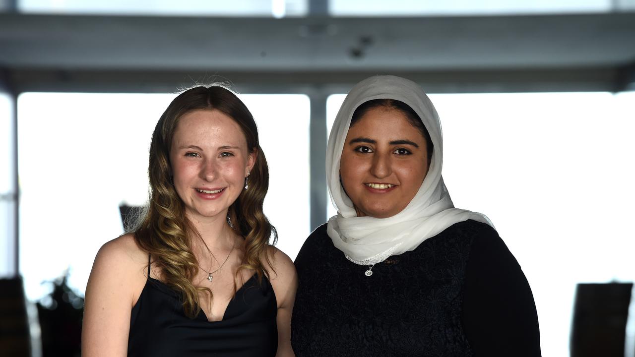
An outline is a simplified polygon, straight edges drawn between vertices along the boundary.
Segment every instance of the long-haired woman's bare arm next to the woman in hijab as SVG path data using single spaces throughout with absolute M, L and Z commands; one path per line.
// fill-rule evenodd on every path
M 291 313 L 295 301 L 295 290 L 298 288 L 298 274 L 293 261 L 277 248 L 271 264 L 276 271 L 272 273 L 271 286 L 277 300 L 278 349 L 276 357 L 295 356 L 291 349 Z

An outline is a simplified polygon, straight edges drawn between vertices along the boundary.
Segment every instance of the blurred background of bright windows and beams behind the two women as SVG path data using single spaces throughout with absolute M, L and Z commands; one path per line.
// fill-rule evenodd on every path
M 293 259 L 374 74 L 430 94 L 446 185 L 523 267 L 543 356 L 635 356 L 635 0 L 0 0 L 0 354 L 79 354 L 91 264 L 147 200 L 179 90 L 240 93 Z

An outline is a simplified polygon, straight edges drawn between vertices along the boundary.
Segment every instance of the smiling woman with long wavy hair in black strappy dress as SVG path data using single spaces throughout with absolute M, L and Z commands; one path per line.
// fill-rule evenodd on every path
M 293 262 L 269 245 L 256 123 L 222 86 L 178 95 L 150 144 L 150 203 L 86 288 L 83 356 L 293 356 Z M 277 354 L 276 354 L 277 353 Z

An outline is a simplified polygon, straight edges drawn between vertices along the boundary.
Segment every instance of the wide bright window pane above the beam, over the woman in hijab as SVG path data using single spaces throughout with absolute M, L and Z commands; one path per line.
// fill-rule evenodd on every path
M 606 12 L 611 0 L 492 0 L 492 1 L 364 1 L 330 0 L 333 16 L 503 15 Z

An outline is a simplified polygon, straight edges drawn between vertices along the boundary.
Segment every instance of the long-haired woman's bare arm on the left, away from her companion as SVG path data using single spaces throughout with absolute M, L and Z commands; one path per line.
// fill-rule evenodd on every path
M 82 356 L 126 356 L 130 313 L 145 283 L 144 255 L 130 234 L 100 248 L 86 286 Z

